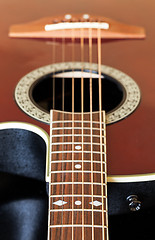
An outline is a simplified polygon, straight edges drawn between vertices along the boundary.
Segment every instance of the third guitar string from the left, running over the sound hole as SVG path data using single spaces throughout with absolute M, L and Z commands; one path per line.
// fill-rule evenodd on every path
M 72 62 L 74 61 L 74 29 L 72 29 Z M 74 68 L 72 66 L 72 73 Z M 72 76 L 72 240 L 74 240 L 74 75 Z

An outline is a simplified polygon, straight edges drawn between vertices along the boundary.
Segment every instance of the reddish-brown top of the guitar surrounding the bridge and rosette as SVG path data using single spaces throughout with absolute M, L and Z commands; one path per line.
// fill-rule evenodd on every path
M 151 25 L 154 18 L 152 10 L 154 3 L 151 1 L 149 6 L 147 6 L 145 1 L 141 2 L 143 9 L 148 9 L 145 11 L 145 14 L 143 9 L 138 8 L 138 2 L 134 3 L 135 6 L 132 6 L 129 2 L 122 5 L 122 2 L 118 1 L 117 11 L 113 7 L 115 5 L 113 1 L 105 1 L 101 4 L 102 7 L 100 4 L 98 4 L 98 9 L 95 5 L 96 15 L 102 15 L 101 8 L 104 8 L 104 15 L 128 24 L 143 26 L 147 34 L 145 40 L 114 41 L 103 44 L 102 47 L 103 64 L 114 67 L 131 76 L 141 90 L 141 102 L 136 111 L 126 119 L 107 127 L 108 174 L 154 173 L 154 29 Z M 1 6 L 3 21 L 1 22 L 0 121 L 32 123 L 49 132 L 48 125 L 31 119 L 17 107 L 14 101 L 14 89 L 20 78 L 30 71 L 52 64 L 52 46 L 50 47 L 48 43 L 42 41 L 11 40 L 8 38 L 8 31 L 11 24 L 28 22 L 41 18 L 44 15 L 52 16 L 55 15 L 55 12 L 57 14 L 68 11 L 79 12 L 80 3 L 77 4 L 77 7 L 72 6 L 68 1 L 64 3 L 61 9 L 57 3 L 54 3 L 54 7 L 51 2 L 48 2 L 46 7 L 40 3 L 40 5 L 37 4 L 38 11 L 35 12 L 33 11 L 34 6 L 29 6 L 27 2 L 23 2 L 22 6 L 19 4 L 18 10 L 16 6 L 12 6 L 10 3 L 9 5 L 9 17 L 6 17 L 6 13 L 8 13 L 7 2 L 5 1 Z M 44 11 L 39 10 L 42 7 Z M 86 11 L 85 8 L 81 9 L 81 11 Z M 127 9 L 132 14 L 126 15 Z M 133 9 L 136 9 L 136 12 L 133 12 Z M 24 15 L 23 10 L 25 12 Z M 93 11 L 93 3 L 90 11 Z M 28 13 L 26 14 L 26 12 Z M 55 62 L 60 60 L 61 52 L 57 52 Z

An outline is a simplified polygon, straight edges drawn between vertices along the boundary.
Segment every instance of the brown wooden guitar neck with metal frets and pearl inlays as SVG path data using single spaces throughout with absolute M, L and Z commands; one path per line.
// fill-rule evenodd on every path
M 50 127 L 48 239 L 108 240 L 105 112 L 54 110 Z

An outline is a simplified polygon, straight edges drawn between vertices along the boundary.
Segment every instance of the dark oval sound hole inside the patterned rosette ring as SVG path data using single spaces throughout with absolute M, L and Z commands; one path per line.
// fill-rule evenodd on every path
M 70 72 L 71 73 L 71 72 Z M 69 74 L 69 72 L 68 72 Z M 87 73 L 88 74 L 88 73 Z M 95 75 L 95 74 L 94 74 Z M 96 73 L 97 76 L 97 73 Z M 90 78 L 84 77 L 84 112 L 90 111 Z M 124 87 L 112 77 L 102 75 L 102 109 L 111 112 L 125 99 Z M 63 87 L 64 86 L 64 87 Z M 53 89 L 54 87 L 54 89 Z M 92 78 L 92 108 L 99 110 L 98 77 Z M 35 105 L 45 112 L 50 109 L 72 112 L 72 77 L 59 77 L 47 74 L 36 81 L 30 88 L 30 98 Z M 81 112 L 81 78 L 74 78 L 74 111 Z M 63 109 L 64 106 L 64 109 Z

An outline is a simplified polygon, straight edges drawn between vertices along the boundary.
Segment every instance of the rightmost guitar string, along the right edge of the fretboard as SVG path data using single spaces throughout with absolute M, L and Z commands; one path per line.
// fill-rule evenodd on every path
M 99 85 L 99 119 L 100 119 L 100 153 L 101 153 L 101 192 L 102 192 L 102 238 L 104 239 L 104 191 L 103 191 L 103 154 L 102 154 L 102 89 L 101 89 L 101 30 L 97 29 L 97 44 L 98 44 L 98 85 Z

